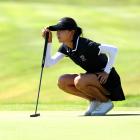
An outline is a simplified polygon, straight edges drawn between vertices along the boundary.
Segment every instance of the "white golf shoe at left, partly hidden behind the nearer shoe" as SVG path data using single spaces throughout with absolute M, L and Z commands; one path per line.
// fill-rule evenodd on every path
M 91 113 L 96 109 L 96 107 L 100 104 L 100 102 L 93 100 L 90 101 L 90 104 L 85 112 L 84 116 L 91 116 Z

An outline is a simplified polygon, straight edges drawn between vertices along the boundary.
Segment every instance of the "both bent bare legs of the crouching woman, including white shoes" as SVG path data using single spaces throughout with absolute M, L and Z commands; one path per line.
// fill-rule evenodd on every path
M 102 87 L 94 74 L 65 74 L 59 78 L 58 86 L 67 93 L 91 101 L 86 116 L 104 115 L 113 107 L 105 96 L 108 91 Z

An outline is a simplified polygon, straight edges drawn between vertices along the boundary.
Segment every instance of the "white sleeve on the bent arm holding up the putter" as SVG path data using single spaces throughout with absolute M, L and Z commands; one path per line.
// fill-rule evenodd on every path
M 45 67 L 50 67 L 56 63 L 58 63 L 65 55 L 60 52 L 56 52 L 55 55 L 51 56 L 51 43 L 47 45 L 47 52 L 45 58 Z

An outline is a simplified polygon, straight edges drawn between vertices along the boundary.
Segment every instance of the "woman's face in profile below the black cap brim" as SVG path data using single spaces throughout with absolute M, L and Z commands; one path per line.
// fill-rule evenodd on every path
M 74 30 L 58 30 L 57 38 L 59 42 L 71 42 L 73 39 Z

